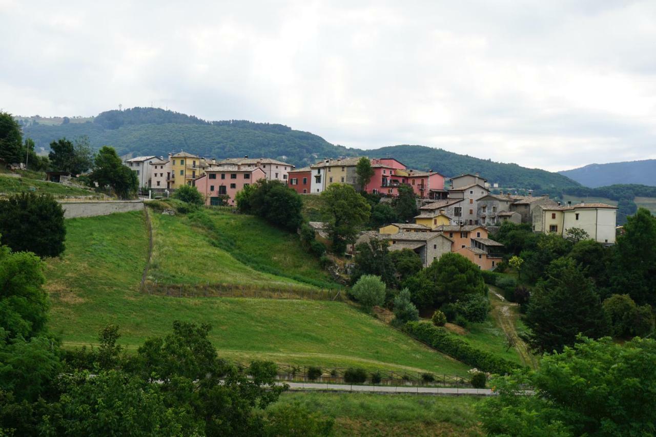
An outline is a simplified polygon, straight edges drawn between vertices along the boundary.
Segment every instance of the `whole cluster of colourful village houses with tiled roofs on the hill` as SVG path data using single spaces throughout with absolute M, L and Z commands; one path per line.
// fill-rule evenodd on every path
M 566 236 L 581 229 L 605 245 L 615 243 L 617 207 L 605 203 L 566 205 L 548 196 L 493 194 L 491 184 L 478 173 L 446 178 L 435 171 L 408 169 L 394 158 L 368 159 L 371 177 L 359 186 L 356 167 L 362 157 L 322 159 L 310 167 L 270 158 L 229 158 L 217 161 L 179 152 L 168 157 L 140 156 L 124 164 L 136 172 L 139 186 L 152 192 L 172 192 L 182 185 L 195 186 L 206 205 L 235 206 L 237 192 L 260 179 L 279 180 L 298 194 L 321 194 L 330 184 L 349 184 L 381 201 L 398 196 L 400 186 L 409 186 L 417 198 L 419 215 L 414 222 L 389 223 L 378 231 L 363 231 L 354 247 L 373 238 L 385 239 L 390 251 L 411 249 L 429 266 L 444 253 L 455 252 L 482 270 L 494 270 L 501 262 L 501 243 L 489 239 L 504 222 L 528 223 L 534 232 Z M 323 222 L 310 222 L 316 238 L 329 245 Z

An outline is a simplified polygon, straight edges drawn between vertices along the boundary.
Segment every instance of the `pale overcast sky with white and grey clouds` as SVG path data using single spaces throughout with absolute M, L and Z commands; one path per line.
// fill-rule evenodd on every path
M 656 1 L 0 0 L 0 110 L 133 106 L 558 171 L 656 158 Z

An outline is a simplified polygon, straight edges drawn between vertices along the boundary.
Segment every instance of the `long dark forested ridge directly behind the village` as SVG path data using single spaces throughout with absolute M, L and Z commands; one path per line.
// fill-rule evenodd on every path
M 24 125 L 24 135 L 37 147 L 49 148 L 52 140 L 89 136 L 91 145 L 110 145 L 120 155 L 165 156 L 185 150 L 205 157 L 239 157 L 249 155 L 282 159 L 293 165 L 306 166 L 323 157 L 369 156 L 395 157 L 408 167 L 438 171 L 446 177 L 478 172 L 488 182 L 504 188 L 529 188 L 555 193 L 563 188 L 579 186 L 558 173 L 527 169 L 517 164 L 498 163 L 489 159 L 455 154 L 426 146 L 389 146 L 360 150 L 336 146 L 309 132 L 270 123 L 245 120 L 206 121 L 192 115 L 159 108 L 132 108 L 107 111 L 86 123 L 61 125 Z

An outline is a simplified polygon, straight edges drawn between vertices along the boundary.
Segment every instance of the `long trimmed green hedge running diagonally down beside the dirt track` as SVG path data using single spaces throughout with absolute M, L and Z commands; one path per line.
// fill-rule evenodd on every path
M 430 344 L 430 346 L 443 354 L 447 354 L 479 370 L 504 375 L 510 373 L 513 369 L 522 368 L 519 364 L 499 358 L 490 352 L 480 350 L 449 333 L 443 327 L 436 327 L 432 323 L 408 322 L 405 324 L 405 329 L 417 340 Z

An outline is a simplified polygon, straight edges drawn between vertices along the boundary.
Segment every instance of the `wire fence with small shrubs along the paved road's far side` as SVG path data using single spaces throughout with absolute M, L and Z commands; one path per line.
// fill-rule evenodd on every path
M 249 374 L 250 365 L 232 362 L 242 373 Z M 277 379 L 285 381 L 304 381 L 317 383 L 352 383 L 346 376 L 351 367 L 318 367 L 293 364 L 276 364 Z M 311 370 L 312 369 L 312 370 Z M 377 369 L 366 371 L 363 384 L 375 385 L 409 385 L 409 386 L 444 386 L 471 387 L 470 377 L 449 373 L 416 373 L 396 370 Z

